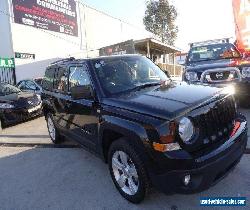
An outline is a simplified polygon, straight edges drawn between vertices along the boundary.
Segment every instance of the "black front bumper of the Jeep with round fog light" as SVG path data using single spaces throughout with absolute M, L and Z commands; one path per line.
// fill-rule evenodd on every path
M 241 124 L 237 133 L 215 151 L 193 160 L 192 169 L 188 170 L 189 160 L 178 160 L 184 170 L 168 170 L 165 173 L 152 174 L 153 185 L 160 191 L 172 193 L 195 193 L 208 189 L 224 178 L 240 161 L 247 145 L 247 123 Z M 195 165 L 197 166 L 195 168 Z M 185 186 L 183 178 L 191 176 Z

